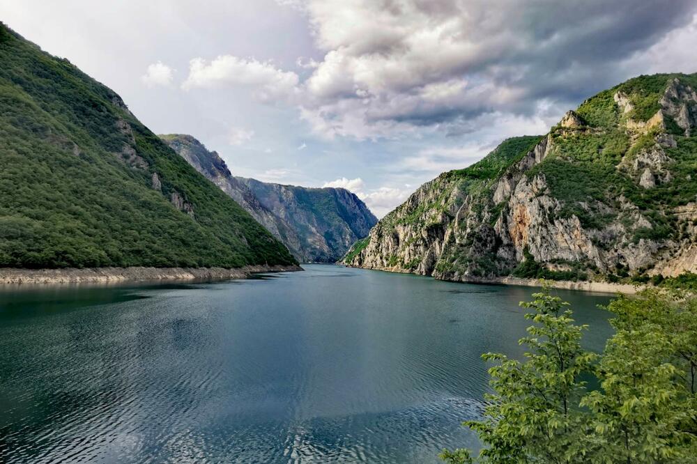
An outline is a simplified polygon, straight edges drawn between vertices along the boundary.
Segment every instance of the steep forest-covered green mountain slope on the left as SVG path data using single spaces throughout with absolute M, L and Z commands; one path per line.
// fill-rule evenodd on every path
M 0 267 L 296 260 L 111 89 L 0 23 Z

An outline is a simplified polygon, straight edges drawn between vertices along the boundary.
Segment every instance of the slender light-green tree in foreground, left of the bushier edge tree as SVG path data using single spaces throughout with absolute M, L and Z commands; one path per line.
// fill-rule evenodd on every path
M 584 413 L 576 406 L 585 392 L 579 378 L 595 359 L 581 348 L 587 327 L 574 325 L 568 303 L 551 295 L 549 287 L 533 297 L 533 302 L 521 303 L 533 310 L 526 318 L 535 323 L 528 327 L 530 336 L 520 340 L 530 348 L 527 361 L 482 356 L 499 363 L 489 369 L 495 393 L 486 396 L 484 419 L 465 425 L 487 444 L 480 453 L 484 462 L 575 463 L 585 456 Z M 441 458 L 451 464 L 471 462 L 462 450 L 445 450 Z

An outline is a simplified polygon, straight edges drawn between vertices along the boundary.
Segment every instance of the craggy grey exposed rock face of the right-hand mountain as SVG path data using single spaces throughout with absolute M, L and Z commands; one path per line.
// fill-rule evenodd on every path
M 654 137 L 655 143 L 641 141 L 644 148 L 627 150 L 629 155 L 615 169 L 643 190 L 675 182 L 671 171 L 675 160 L 666 150 L 682 142 L 666 132 L 666 118 L 675 118 L 686 134 L 697 127 L 691 106 L 697 101 L 694 98 L 689 86 L 672 81 L 657 114 L 648 121 L 633 121 L 626 116 L 635 109 L 631 98 L 616 92 L 618 123 L 629 148 L 645 134 Z M 569 111 L 555 137 L 592 137 L 607 130 L 612 127 L 589 127 Z M 643 206 L 621 195 L 569 204 L 553 194 L 544 170 L 537 172 L 548 159 L 568 160 L 558 155 L 552 133 L 491 180 L 457 178 L 455 171 L 438 176 L 378 222 L 367 243 L 360 243 L 346 264 L 476 281 L 510 275 L 529 254 L 549 270 L 580 267 L 600 276 L 697 272 L 697 208 L 681 206 L 687 209 L 673 212 L 657 206 L 651 219 Z M 682 181 L 694 182 L 690 175 Z M 480 183 L 472 187 L 473 182 Z M 578 182 L 594 180 L 579 178 Z M 654 233 L 656 215 L 666 221 L 675 217 L 680 238 Z

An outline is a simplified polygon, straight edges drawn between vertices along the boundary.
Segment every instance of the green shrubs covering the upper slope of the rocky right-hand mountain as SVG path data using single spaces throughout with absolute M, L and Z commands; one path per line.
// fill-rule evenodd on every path
M 620 210 L 618 199 L 623 197 L 642 210 L 652 224 L 637 229 L 634 242 L 641 238 L 660 240 L 675 233 L 675 223 L 663 211 L 685 205 L 697 196 L 697 181 L 693 178 L 697 138 L 683 137 L 682 130 L 671 130 L 672 120 L 668 121 L 668 132 L 679 134 L 674 136 L 676 147 L 664 148 L 671 159 L 665 167 L 671 173 L 671 181 L 644 189 L 638 185 L 638 173 L 631 173 L 627 167 L 639 153 L 656 145 L 659 130 L 650 130 L 632 143 L 619 125 L 620 116 L 613 100 L 615 92 L 625 92 L 634 105 L 628 116 L 645 121 L 658 111 L 661 95 L 675 77 L 690 85 L 697 84 L 697 75 L 636 77 L 599 93 L 579 107 L 579 115 L 596 130 L 553 128 L 551 154 L 526 175 L 544 175 L 549 193 L 562 203 L 558 217 L 576 216 L 585 229 L 602 229 L 616 219 L 606 210 Z

